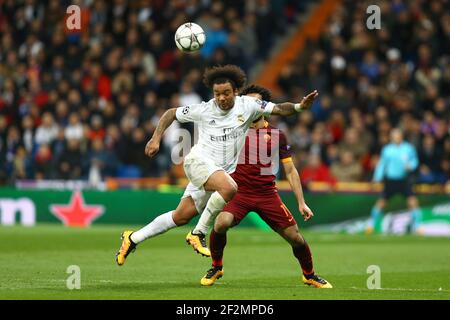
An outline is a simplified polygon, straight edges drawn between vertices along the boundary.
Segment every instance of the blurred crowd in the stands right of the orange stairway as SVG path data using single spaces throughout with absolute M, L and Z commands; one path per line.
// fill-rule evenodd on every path
M 373 2 L 373 1 L 372 1 Z M 286 99 L 321 92 L 311 112 L 286 123 L 308 180 L 368 181 L 389 132 L 400 127 L 420 159 L 417 182 L 450 175 L 450 2 L 343 1 L 316 42 L 284 67 Z

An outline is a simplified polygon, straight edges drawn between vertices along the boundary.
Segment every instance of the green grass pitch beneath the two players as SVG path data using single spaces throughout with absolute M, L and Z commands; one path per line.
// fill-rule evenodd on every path
M 450 299 L 450 238 L 305 232 L 316 272 L 334 286 L 320 290 L 300 282 L 277 234 L 238 227 L 224 277 L 201 287 L 210 260 L 186 245 L 187 228 L 145 241 L 118 267 L 123 229 L 0 227 L 0 299 Z M 66 286 L 70 265 L 80 267 L 79 290 Z M 370 265 L 380 267 L 381 289 L 367 288 Z

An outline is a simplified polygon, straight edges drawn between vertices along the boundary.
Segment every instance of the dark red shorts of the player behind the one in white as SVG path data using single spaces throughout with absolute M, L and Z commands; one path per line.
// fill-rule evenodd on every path
M 222 211 L 233 214 L 236 224 L 239 224 L 249 212 L 254 211 L 275 231 L 297 224 L 289 209 L 275 192 L 271 195 L 249 196 L 238 191 Z

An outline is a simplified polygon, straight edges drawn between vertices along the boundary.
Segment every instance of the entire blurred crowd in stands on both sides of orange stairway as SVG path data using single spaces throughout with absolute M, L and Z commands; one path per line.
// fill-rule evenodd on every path
M 79 1 L 74 32 L 64 16 L 73 1 L 0 1 L 0 184 L 171 174 L 170 131 L 155 158 L 143 152 L 159 117 L 211 98 L 206 67 L 250 72 L 268 59 L 312 2 Z M 396 126 L 417 148 L 417 181 L 449 179 L 449 3 L 377 3 L 381 30 L 366 28 L 368 2 L 343 1 L 278 79 L 274 101 L 320 92 L 311 112 L 271 119 L 286 131 L 304 183 L 370 180 Z M 186 21 L 206 31 L 199 53 L 174 45 Z

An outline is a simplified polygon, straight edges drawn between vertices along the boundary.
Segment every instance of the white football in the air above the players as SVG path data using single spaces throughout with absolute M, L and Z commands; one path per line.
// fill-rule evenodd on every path
M 202 27 L 192 22 L 182 24 L 175 32 L 175 44 L 181 51 L 197 51 L 203 47 L 205 41 L 206 36 Z

